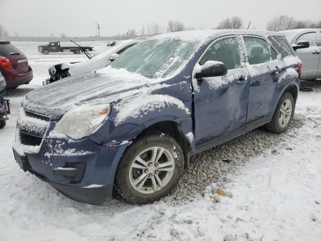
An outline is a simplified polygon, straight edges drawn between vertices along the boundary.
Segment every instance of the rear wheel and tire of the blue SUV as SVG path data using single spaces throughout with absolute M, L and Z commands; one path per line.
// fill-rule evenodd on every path
M 277 103 L 271 122 L 265 124 L 264 127 L 269 132 L 278 134 L 285 132 L 291 124 L 294 107 L 293 96 L 289 92 L 284 92 Z

